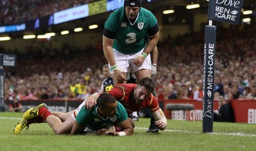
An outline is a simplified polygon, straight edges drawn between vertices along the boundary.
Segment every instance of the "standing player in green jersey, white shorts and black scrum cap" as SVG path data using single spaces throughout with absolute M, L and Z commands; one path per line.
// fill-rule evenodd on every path
M 141 4 L 141 0 L 125 0 L 105 22 L 102 45 L 114 84 L 126 83 L 129 72 L 137 82 L 152 75 L 150 52 L 159 40 L 159 26 L 153 13 Z M 154 120 L 150 123 L 148 132 L 158 132 Z

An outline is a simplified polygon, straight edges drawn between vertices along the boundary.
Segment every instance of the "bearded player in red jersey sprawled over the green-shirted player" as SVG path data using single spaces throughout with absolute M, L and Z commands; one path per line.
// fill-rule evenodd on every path
M 125 107 L 128 114 L 134 111 L 148 108 L 150 113 L 156 120 L 156 126 L 161 131 L 166 129 L 167 120 L 159 107 L 158 100 L 152 92 L 156 89 L 156 84 L 150 77 L 143 77 L 138 84 L 116 84 L 108 93 L 113 95 Z M 95 100 L 99 95 L 90 95 L 85 101 L 84 106 L 86 109 L 92 108 L 95 105 Z

